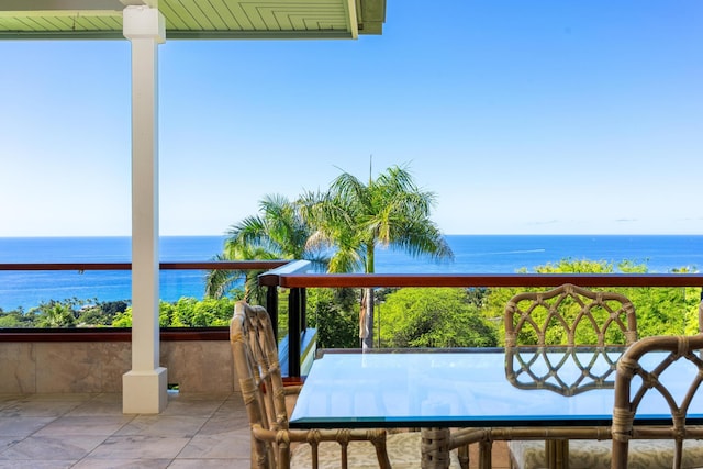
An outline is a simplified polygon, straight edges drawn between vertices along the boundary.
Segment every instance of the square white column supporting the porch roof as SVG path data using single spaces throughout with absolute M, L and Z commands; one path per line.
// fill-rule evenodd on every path
M 122 377 L 125 414 L 156 414 L 168 402 L 159 367 L 158 327 L 158 51 L 166 38 L 157 9 L 126 7 L 132 43 L 132 370 Z

